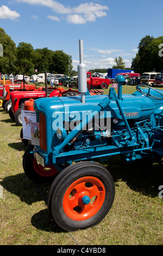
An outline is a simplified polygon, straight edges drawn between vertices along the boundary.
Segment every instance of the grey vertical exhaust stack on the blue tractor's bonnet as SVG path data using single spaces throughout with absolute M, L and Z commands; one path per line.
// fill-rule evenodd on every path
M 86 65 L 84 64 L 83 39 L 79 40 L 79 65 L 78 65 L 78 89 L 81 93 L 81 101 L 85 103 L 85 93 L 87 92 Z

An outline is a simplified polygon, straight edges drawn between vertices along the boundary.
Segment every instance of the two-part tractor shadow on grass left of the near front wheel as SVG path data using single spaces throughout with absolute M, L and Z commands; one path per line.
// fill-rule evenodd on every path
M 26 174 L 21 173 L 4 178 L 0 185 L 12 194 L 15 194 L 28 205 L 32 205 L 35 202 L 45 201 L 47 204 L 48 191 L 51 184 L 38 183 L 35 184 L 30 181 Z M 48 212 L 48 209 L 41 210 L 32 216 L 31 223 L 34 227 L 40 230 L 50 231 L 54 233 L 61 233 L 62 230 L 58 224 L 52 221 L 52 218 Z

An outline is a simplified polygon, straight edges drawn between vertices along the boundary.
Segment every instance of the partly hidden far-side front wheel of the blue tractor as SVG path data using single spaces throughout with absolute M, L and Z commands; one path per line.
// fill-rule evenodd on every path
M 24 173 L 32 181 L 36 182 L 48 182 L 53 181 L 58 174 L 58 170 L 54 166 L 45 166 L 43 168 L 41 164 L 37 163 L 34 154 L 30 153 L 34 150 L 34 145 L 30 144 L 26 149 L 23 156 L 23 169 Z

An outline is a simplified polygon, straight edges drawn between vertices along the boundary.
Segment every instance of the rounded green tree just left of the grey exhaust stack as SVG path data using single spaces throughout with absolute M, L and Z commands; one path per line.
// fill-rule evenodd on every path
M 56 74 L 70 75 L 72 71 L 72 57 L 63 51 L 55 51 L 49 64 L 50 72 Z

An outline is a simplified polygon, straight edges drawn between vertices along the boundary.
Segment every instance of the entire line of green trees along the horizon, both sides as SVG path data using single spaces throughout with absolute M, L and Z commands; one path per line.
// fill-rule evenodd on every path
M 23 74 L 30 76 L 43 73 L 45 70 L 51 74 L 65 74 L 68 76 L 76 76 L 77 71 L 72 70 L 72 56 L 57 50 L 52 51 L 47 47 L 35 49 L 27 42 L 16 44 L 11 40 L 10 36 L 0 28 L 0 72 L 2 74 Z M 142 74 L 143 72 L 163 70 L 163 36 L 154 38 L 146 35 L 140 40 L 138 52 L 132 60 L 131 68 L 126 68 L 122 57 L 115 58 L 114 69 L 133 69 L 135 72 Z M 91 69 L 94 72 L 106 73 L 108 69 Z

